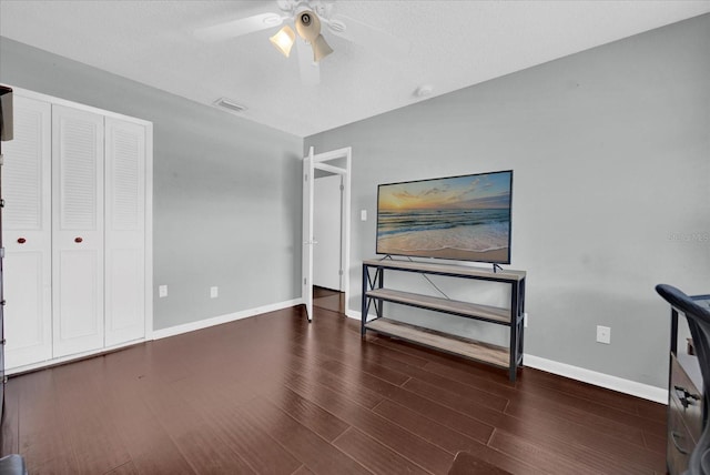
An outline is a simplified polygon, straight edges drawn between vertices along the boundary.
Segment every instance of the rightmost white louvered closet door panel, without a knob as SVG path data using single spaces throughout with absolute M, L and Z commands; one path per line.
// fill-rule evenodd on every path
M 145 336 L 145 127 L 105 119 L 105 345 Z

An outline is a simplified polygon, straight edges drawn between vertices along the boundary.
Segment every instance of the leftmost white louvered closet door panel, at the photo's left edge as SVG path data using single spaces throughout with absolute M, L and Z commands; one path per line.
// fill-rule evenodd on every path
M 51 105 L 14 97 L 2 171 L 6 366 L 52 357 Z

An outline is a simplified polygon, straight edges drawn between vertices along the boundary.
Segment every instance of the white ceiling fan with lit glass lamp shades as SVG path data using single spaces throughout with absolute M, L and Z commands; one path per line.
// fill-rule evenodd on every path
M 281 12 L 260 13 L 216 23 L 200 28 L 194 34 L 203 41 L 219 42 L 256 31 L 276 29 L 286 23 L 270 40 L 286 58 L 295 44 L 301 80 L 307 85 L 321 82 L 320 61 L 333 52 L 323 36 L 323 30 L 326 34 L 341 37 L 393 58 L 409 52 L 407 41 L 353 18 L 333 14 L 333 3 L 334 0 L 277 0 Z M 322 28 L 322 24 L 325 24 L 325 28 Z

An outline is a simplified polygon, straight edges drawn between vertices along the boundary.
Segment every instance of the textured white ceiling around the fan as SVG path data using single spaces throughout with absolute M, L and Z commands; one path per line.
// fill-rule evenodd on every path
M 710 1 L 355 1 L 333 12 L 410 42 L 383 57 L 324 32 L 335 52 L 321 83 L 303 85 L 297 60 L 274 50 L 274 30 L 205 43 L 194 30 L 263 12 L 276 2 L 0 0 L 0 36 L 212 104 L 298 137 L 362 120 L 642 31 L 710 12 Z M 226 113 L 226 112 L 225 112 Z

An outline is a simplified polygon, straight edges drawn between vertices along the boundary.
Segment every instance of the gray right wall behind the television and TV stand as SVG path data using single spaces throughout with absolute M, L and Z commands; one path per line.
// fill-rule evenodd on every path
M 353 148 L 348 309 L 375 255 L 378 183 L 513 169 L 526 353 L 666 386 L 669 309 L 653 286 L 710 293 L 708 84 L 703 16 L 306 138 Z

